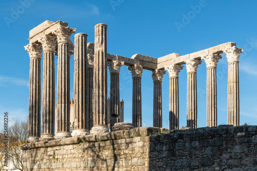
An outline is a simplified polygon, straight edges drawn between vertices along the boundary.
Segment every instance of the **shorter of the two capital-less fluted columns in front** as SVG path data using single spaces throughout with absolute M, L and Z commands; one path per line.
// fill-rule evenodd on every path
M 88 135 L 87 130 L 87 34 L 75 34 L 74 49 L 74 130 L 72 137 Z

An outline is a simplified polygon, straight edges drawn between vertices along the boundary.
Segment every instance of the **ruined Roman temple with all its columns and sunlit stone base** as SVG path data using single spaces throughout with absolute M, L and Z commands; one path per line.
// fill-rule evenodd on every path
M 236 47 L 235 43 L 228 42 L 185 55 L 171 53 L 158 59 L 142 54 L 135 54 L 131 58 L 127 58 L 118 54 L 107 53 L 106 24 L 97 24 L 95 26 L 94 43 L 87 43 L 86 33 L 77 33 L 75 34 L 75 40 L 73 44 L 70 40 L 70 36 L 75 32 L 75 28 L 70 28 L 68 26 L 68 23 L 61 21 L 45 21 L 44 23 L 30 30 L 29 32 L 29 44 L 25 46 L 25 49 L 28 51 L 30 57 L 29 138 L 28 143 L 22 146 L 22 148 L 25 150 L 24 158 L 27 170 L 43 170 L 43 168 L 48 168 L 51 170 L 53 168 L 66 168 L 64 165 L 59 167 L 58 164 L 54 164 L 55 166 L 49 166 L 44 163 L 42 164 L 42 162 L 40 162 L 40 160 L 38 159 L 32 160 L 29 155 L 34 155 L 34 158 L 36 158 L 37 154 L 34 154 L 35 150 L 39 150 L 39 153 L 45 154 L 45 156 L 49 156 L 49 154 L 51 154 L 50 156 L 56 156 L 57 154 L 54 155 L 54 152 L 52 151 L 57 150 L 60 152 L 60 149 L 66 149 L 67 151 L 65 153 L 73 154 L 73 152 L 68 151 L 68 149 L 74 149 L 75 146 L 78 149 L 82 148 L 80 144 L 85 142 L 89 143 L 89 146 L 85 147 L 86 149 L 84 149 L 84 151 L 87 151 L 88 154 L 88 151 L 91 151 L 91 153 L 92 150 L 94 151 L 94 149 L 91 149 L 91 147 L 97 148 L 99 150 L 101 146 L 107 147 L 109 145 L 113 146 L 111 147 L 113 150 L 122 149 L 121 154 L 117 151 L 113 151 L 113 154 L 109 154 L 111 156 L 116 156 L 118 154 L 118 159 L 117 156 L 115 159 L 105 159 L 105 154 L 99 151 L 94 151 L 94 153 L 98 153 L 97 160 L 101 160 L 99 165 L 104 165 L 104 162 L 106 161 L 107 164 L 103 166 L 106 169 L 114 166 L 117 166 L 117 168 L 129 168 L 128 170 L 130 170 L 131 168 L 137 168 L 136 170 L 140 168 L 153 168 L 151 167 L 150 157 L 141 158 L 142 156 L 139 154 L 151 154 L 152 144 L 155 144 L 155 146 L 152 147 L 155 149 L 154 151 L 171 150 L 168 149 L 168 147 L 166 149 L 157 149 L 158 142 L 156 146 L 156 141 L 162 140 L 157 140 L 157 137 L 156 140 L 153 140 L 153 138 L 151 138 L 151 135 L 159 135 L 163 137 L 164 135 L 168 134 L 172 135 L 171 137 L 174 138 L 174 136 L 178 134 L 176 133 L 176 130 L 179 129 L 178 78 L 179 72 L 182 69 L 187 70 L 187 126 L 191 128 L 197 128 L 196 73 L 198 66 L 204 63 L 207 68 L 207 127 L 216 127 L 215 129 L 217 130 L 223 129 L 224 127 L 217 127 L 216 84 L 216 67 L 218 61 L 222 58 L 222 53 L 226 53 L 228 61 L 228 125 L 239 126 L 240 113 L 238 89 L 238 60 L 240 58 L 240 54 L 243 52 L 243 49 Z M 41 85 L 42 51 L 43 84 Z M 72 134 L 70 134 L 70 60 L 73 60 L 72 58 L 70 58 L 70 56 L 72 54 L 74 54 L 75 61 L 74 102 L 72 101 L 72 104 L 74 103 L 74 107 L 72 107 L 72 112 L 74 112 L 74 130 L 72 130 Z M 55 55 L 58 57 L 57 78 L 54 78 Z M 204 61 L 204 63 L 202 61 Z M 127 69 L 131 71 L 133 79 L 132 124 L 123 123 L 124 102 L 120 101 L 119 74 L 120 68 L 124 66 L 127 66 Z M 109 69 L 110 75 L 107 75 L 107 69 Z M 152 128 L 142 127 L 141 77 L 144 69 L 151 70 L 153 78 L 154 127 Z M 163 75 L 166 74 L 166 71 L 168 72 L 170 79 L 169 130 L 162 128 L 161 84 Z M 180 76 L 186 77 L 186 75 Z M 107 77 L 111 78 L 109 99 L 107 95 Z M 57 79 L 57 90 L 55 90 L 54 88 L 55 79 Z M 55 104 L 54 101 L 54 94 L 56 91 L 57 104 Z M 42 135 L 40 135 L 41 105 L 43 109 Z M 56 116 L 54 115 L 55 105 Z M 111 132 L 109 132 L 109 129 L 107 127 L 108 122 L 111 123 L 111 128 L 113 130 Z M 55 131 L 54 127 L 56 127 Z M 208 129 L 209 128 L 203 129 L 203 131 L 208 132 Z M 224 134 L 227 134 L 228 129 L 231 128 L 226 127 L 224 129 L 226 129 Z M 252 128 L 251 130 L 255 131 L 253 129 L 254 128 Z M 170 132 L 170 130 L 175 131 L 173 131 L 172 133 Z M 201 131 L 203 133 L 202 129 L 200 128 L 192 130 L 194 130 L 194 135 L 192 136 L 192 138 L 195 138 L 195 134 L 197 134 L 197 131 Z M 173 136 L 173 134 L 175 135 Z M 230 136 L 233 137 L 233 132 L 231 134 L 232 135 Z M 255 133 L 251 134 L 254 135 Z M 140 138 L 140 136 L 143 137 Z M 173 138 L 171 137 L 168 138 L 169 141 L 171 139 L 173 141 Z M 127 139 L 129 138 L 133 140 L 128 141 Z M 210 141 L 214 141 L 212 140 L 212 138 Z M 177 139 L 183 138 L 177 137 Z M 195 140 L 195 143 L 196 141 L 197 143 L 198 141 L 200 143 L 200 138 L 195 139 L 197 139 Z M 185 137 L 184 140 L 187 141 Z M 137 161 L 135 161 L 133 157 L 128 159 L 128 147 L 125 147 L 125 145 L 119 145 L 126 141 L 128 141 L 128 146 L 130 146 L 131 149 L 134 149 L 135 147 L 137 148 L 137 145 L 139 145 L 140 148 L 138 148 L 138 150 L 141 149 L 141 152 L 138 154 L 138 156 L 137 154 L 135 154 Z M 131 145 L 131 143 L 133 143 L 134 141 L 136 143 L 135 146 Z M 192 144 L 193 142 L 190 143 Z M 71 145 L 74 146 L 71 147 Z M 185 146 L 185 144 L 180 145 Z M 219 145 L 222 146 L 222 144 Z M 57 148 L 57 146 L 61 146 L 61 148 Z M 69 147 L 66 148 L 66 146 Z M 123 151 L 123 149 L 126 149 L 126 151 Z M 172 149 L 179 150 L 180 148 L 177 148 L 176 144 L 175 147 Z M 101 150 L 105 151 L 107 150 L 107 148 L 103 148 Z M 61 153 L 62 152 L 60 152 L 60 154 Z M 65 153 L 62 153 L 62 155 L 64 155 Z M 126 158 L 130 162 L 126 163 L 124 161 L 125 159 L 121 161 L 120 156 L 122 155 L 125 155 L 124 158 Z M 86 163 L 84 163 L 84 160 L 82 160 L 83 156 L 84 155 L 82 154 L 79 156 L 79 158 L 81 158 L 81 161 L 78 161 L 79 164 L 74 168 L 95 169 L 96 167 L 96 170 L 97 168 L 100 169 L 100 166 L 95 165 L 96 163 L 93 165 L 89 163 L 89 160 L 93 161 L 93 158 L 95 156 L 87 156 L 91 157 L 90 159 L 84 157 L 87 158 L 85 159 Z M 51 159 L 47 158 L 46 160 L 48 160 L 47 162 L 49 162 Z M 64 162 L 70 163 L 72 160 L 70 159 Z M 31 161 L 33 164 L 31 164 Z M 118 165 L 115 161 L 117 161 Z M 138 167 L 132 165 L 138 165 Z M 193 166 L 194 165 L 192 165 L 192 167 Z M 180 167 L 177 166 L 177 168 Z

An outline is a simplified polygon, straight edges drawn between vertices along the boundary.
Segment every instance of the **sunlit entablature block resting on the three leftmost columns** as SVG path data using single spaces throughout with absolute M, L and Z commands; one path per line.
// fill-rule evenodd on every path
M 57 21 L 54 23 L 48 20 L 41 23 L 29 31 L 29 43 L 31 44 L 38 42 L 38 38 L 45 34 L 52 35 L 52 30 L 57 29 L 59 26 L 68 27 L 68 23 L 62 21 Z

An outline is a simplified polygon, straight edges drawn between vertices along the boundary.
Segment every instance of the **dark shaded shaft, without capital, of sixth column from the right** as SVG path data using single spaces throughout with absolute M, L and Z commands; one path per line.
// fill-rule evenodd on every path
M 132 124 L 142 126 L 141 78 L 133 78 Z

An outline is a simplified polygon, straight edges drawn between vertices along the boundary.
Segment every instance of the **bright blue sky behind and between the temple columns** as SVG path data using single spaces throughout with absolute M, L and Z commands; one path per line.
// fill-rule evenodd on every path
M 28 3 L 29 2 L 29 3 Z M 198 7 L 198 8 L 197 8 Z M 200 7 L 200 8 L 199 8 Z M 154 58 L 180 55 L 226 42 L 243 48 L 240 58 L 240 125 L 257 125 L 257 2 L 256 1 L 3 1 L 0 6 L 0 124 L 4 111 L 10 118 L 28 116 L 29 30 L 46 20 L 68 22 L 77 33 L 87 33 L 94 42 L 94 26 L 108 25 L 107 52 L 131 58 L 139 53 Z M 16 14 L 16 15 L 15 15 Z M 185 16 L 189 19 L 186 20 Z M 178 24 L 179 23 L 179 24 Z M 181 27 L 178 27 L 181 26 Z M 71 36 L 74 42 L 74 35 Z M 227 124 L 227 60 L 217 66 L 218 125 Z M 73 98 L 74 60 L 71 56 Z M 57 60 L 56 64 L 57 66 Z M 43 67 L 43 63 L 42 63 Z M 152 71 L 142 76 L 142 121 L 153 126 Z M 109 77 L 108 77 L 109 80 Z M 120 99 L 124 100 L 124 121 L 132 122 L 132 76 L 126 66 L 120 72 Z M 197 71 L 198 127 L 206 126 L 206 65 Z M 169 120 L 169 75 L 162 82 L 163 127 Z M 179 126 L 187 120 L 186 67 L 179 73 Z

